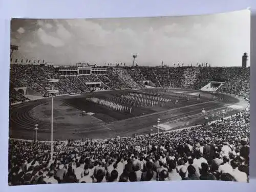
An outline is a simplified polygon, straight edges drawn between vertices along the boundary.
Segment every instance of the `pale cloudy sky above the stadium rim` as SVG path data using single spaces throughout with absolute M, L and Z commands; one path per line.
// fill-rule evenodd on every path
M 12 19 L 13 59 L 139 66 L 241 66 L 250 53 L 248 10 L 196 16 Z M 247 65 L 248 66 L 248 65 Z

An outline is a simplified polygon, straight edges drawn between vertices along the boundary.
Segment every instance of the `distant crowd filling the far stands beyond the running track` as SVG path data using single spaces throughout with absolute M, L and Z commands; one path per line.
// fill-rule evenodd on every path
M 60 80 L 55 89 L 59 95 L 90 91 L 87 82 L 103 82 L 109 89 L 145 88 L 143 80 L 155 87 L 173 87 L 199 90 L 210 81 L 224 82 L 217 91 L 249 99 L 250 68 L 241 67 L 108 67 L 101 75 L 61 75 L 52 66 L 11 65 L 10 81 L 14 87 L 29 87 L 43 97 L 49 97 L 49 78 Z M 13 93 L 13 92 L 12 92 Z M 15 97 L 11 99 L 15 102 Z

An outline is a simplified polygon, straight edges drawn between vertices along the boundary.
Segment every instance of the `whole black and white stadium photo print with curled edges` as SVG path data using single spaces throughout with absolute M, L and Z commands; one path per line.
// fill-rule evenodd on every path
M 249 182 L 250 12 L 11 20 L 10 186 Z

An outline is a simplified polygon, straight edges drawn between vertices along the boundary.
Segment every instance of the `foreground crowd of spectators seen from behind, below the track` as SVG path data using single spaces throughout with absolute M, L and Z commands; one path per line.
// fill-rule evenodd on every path
M 9 140 L 9 185 L 134 181 L 249 181 L 249 109 L 198 127 L 126 138 Z

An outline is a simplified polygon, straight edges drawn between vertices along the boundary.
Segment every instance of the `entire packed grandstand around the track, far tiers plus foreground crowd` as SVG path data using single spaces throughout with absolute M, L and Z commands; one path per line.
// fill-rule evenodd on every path
M 210 81 L 222 82 L 216 92 L 249 102 L 250 68 L 241 67 L 106 67 L 97 75 L 63 75 L 53 66 L 11 65 L 10 102 L 25 102 L 15 88 L 27 87 L 49 97 L 50 78 L 59 94 L 86 94 L 97 89 L 156 88 L 200 90 Z M 89 84 L 88 84 L 89 83 Z M 50 143 L 9 140 L 9 185 L 100 183 L 172 180 L 249 182 L 249 107 L 224 122 L 191 129 L 106 140 Z M 36 147 L 35 147 L 36 146 Z

